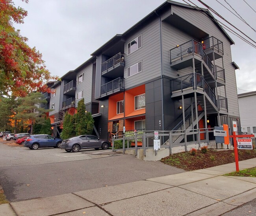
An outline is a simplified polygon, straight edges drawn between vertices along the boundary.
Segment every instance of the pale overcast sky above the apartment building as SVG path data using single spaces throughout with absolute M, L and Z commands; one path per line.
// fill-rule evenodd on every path
M 202 1 L 256 41 L 255 31 L 221 6 L 217 0 Z M 256 12 L 244 0 L 218 1 L 232 10 L 226 4 L 228 2 L 256 30 Z M 256 0 L 245 1 L 256 11 Z M 13 2 L 15 6 L 28 11 L 24 24 L 15 27 L 20 29 L 22 36 L 28 38 L 29 46 L 35 46 L 43 54 L 43 60 L 51 74 L 61 77 L 89 59 L 91 53 L 113 36 L 124 33 L 165 1 L 30 0 L 28 4 L 21 0 Z M 176 2 L 185 3 L 183 0 Z M 204 7 L 197 0 L 191 2 Z M 232 61 L 240 68 L 236 70 L 236 80 L 237 87 L 243 90 L 237 89 L 237 92 L 240 94 L 255 91 L 256 49 L 232 33 L 227 33 L 235 42 L 235 45 L 231 46 Z

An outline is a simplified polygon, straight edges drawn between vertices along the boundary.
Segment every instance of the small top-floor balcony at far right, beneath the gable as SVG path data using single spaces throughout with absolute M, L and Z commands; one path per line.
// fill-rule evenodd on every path
M 202 41 L 202 47 L 204 52 L 206 52 L 206 54 L 210 57 L 211 61 L 213 60 L 213 56 L 209 54 L 212 52 L 214 53 L 215 59 L 223 57 L 223 42 L 213 36 Z

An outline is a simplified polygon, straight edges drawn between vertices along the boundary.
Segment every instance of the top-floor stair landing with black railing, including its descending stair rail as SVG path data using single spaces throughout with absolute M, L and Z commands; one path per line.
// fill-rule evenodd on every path
M 180 46 L 177 46 L 170 50 L 171 67 L 176 70 L 193 66 L 193 58 L 195 59 L 195 65 L 204 64 L 211 79 L 215 79 L 214 66 L 211 63 L 211 59 L 206 55 L 203 50 L 202 44 L 195 40 L 188 41 Z

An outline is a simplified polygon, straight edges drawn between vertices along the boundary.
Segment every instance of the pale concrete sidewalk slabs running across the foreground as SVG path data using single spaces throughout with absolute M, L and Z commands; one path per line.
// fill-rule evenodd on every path
M 239 162 L 240 170 L 256 158 Z M 235 163 L 106 186 L 48 198 L 0 205 L 5 216 L 217 216 L 256 198 L 256 178 L 227 177 Z M 256 215 L 256 212 L 251 212 Z

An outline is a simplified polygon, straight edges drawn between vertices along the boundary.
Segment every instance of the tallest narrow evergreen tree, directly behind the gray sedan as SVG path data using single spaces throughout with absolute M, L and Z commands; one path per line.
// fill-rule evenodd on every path
M 86 134 L 87 132 L 87 118 L 85 113 L 84 98 L 78 102 L 76 113 L 76 136 Z

